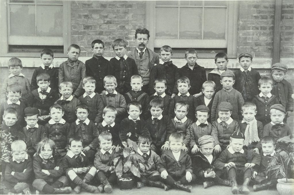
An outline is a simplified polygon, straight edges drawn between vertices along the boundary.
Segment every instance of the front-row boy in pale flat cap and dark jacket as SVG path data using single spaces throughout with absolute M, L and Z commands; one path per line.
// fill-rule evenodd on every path
M 210 135 L 204 135 L 198 139 L 200 152 L 192 157 L 193 172 L 201 178 L 203 187 L 208 188 L 215 184 L 230 186 L 231 182 L 226 179 L 221 179 L 220 171 L 218 174 L 214 171 L 213 163 L 216 161 L 216 156 L 213 152 L 214 139 Z

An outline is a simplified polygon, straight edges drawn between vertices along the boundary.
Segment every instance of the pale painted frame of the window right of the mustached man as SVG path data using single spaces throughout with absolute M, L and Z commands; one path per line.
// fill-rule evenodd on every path
M 150 38 L 148 42 L 148 47 L 151 50 L 154 50 L 155 45 L 157 44 L 169 44 L 171 47 L 178 48 L 180 42 L 185 43 L 183 48 L 218 48 L 215 45 L 207 46 L 207 41 L 211 39 L 155 39 L 155 24 L 156 24 L 156 1 L 146 1 L 145 9 L 145 21 L 146 28 L 150 31 Z M 214 43 L 226 44 L 228 58 L 237 58 L 237 28 L 238 28 L 238 2 L 237 1 L 228 1 L 227 3 L 227 23 L 226 23 L 226 34 L 225 39 L 226 43 L 223 40 L 213 40 Z M 164 44 L 163 42 L 164 41 Z M 162 43 L 161 43 L 162 42 Z M 199 53 L 199 58 L 214 58 L 215 53 Z M 183 54 L 174 54 L 173 57 L 183 58 Z

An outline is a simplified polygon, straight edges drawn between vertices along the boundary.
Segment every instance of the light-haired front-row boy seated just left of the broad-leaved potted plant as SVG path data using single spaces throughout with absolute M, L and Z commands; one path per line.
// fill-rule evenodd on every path
M 98 137 L 100 149 L 95 154 L 94 166 L 97 169 L 96 177 L 102 183 L 100 186 L 106 193 L 112 191 L 112 185 L 116 183 L 117 176 L 115 167 L 111 162 L 116 157 L 114 147 L 112 147 L 112 136 L 110 133 L 101 133 Z

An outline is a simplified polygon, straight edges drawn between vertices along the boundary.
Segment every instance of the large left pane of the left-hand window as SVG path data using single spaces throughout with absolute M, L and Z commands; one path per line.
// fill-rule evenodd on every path
M 35 6 L 10 5 L 10 35 L 36 36 Z

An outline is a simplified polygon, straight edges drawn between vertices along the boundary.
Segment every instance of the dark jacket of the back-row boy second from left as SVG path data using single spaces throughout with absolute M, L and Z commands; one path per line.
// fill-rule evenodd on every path
M 41 66 L 34 70 L 32 80 L 31 80 L 31 91 L 38 89 L 39 86 L 37 85 L 37 76 L 41 73 L 47 73 L 50 76 L 50 85 L 49 87 L 54 91 L 58 91 L 58 69 L 57 67 L 52 67 L 49 69 L 43 69 Z

